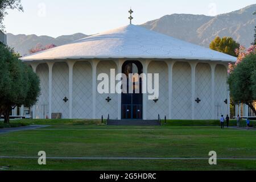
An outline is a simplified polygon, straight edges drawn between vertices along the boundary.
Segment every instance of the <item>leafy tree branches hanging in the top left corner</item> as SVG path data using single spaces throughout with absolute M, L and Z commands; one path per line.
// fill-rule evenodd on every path
M 20 0 L 0 0 L 0 30 L 5 30 L 3 26 L 3 19 L 7 15 L 8 9 L 18 9 L 23 11 L 23 7 L 20 3 Z

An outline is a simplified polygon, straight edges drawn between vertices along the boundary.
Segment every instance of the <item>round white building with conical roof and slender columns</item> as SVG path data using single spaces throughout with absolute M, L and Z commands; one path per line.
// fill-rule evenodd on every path
M 129 26 L 22 57 L 40 78 L 34 118 L 217 119 L 229 114 L 228 64 L 236 57 Z M 159 73 L 159 97 L 100 94 L 101 73 Z M 118 81 L 116 81 L 118 82 Z M 141 82 L 140 82 L 141 84 Z

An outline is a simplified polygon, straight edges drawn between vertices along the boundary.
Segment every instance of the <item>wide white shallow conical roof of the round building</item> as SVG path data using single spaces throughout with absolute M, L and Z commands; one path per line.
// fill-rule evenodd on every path
M 236 61 L 236 57 L 133 24 L 34 53 L 21 60 L 118 58 Z

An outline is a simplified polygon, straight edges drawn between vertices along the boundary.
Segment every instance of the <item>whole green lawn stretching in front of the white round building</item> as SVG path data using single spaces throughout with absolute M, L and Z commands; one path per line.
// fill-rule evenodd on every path
M 15 121 L 20 122 L 20 121 Z M 24 122 L 24 121 L 22 121 Z M 63 160 L 0 159 L 8 170 L 256 170 L 256 130 L 221 130 L 218 126 L 168 121 L 163 126 L 105 126 L 101 121 L 26 120 L 26 124 L 50 125 L 44 129 L 1 134 L 0 156 L 99 158 L 163 158 L 163 160 Z M 207 125 L 218 125 L 208 121 Z M 233 122 L 232 122 L 233 123 Z M 202 124 L 201 124 L 202 125 Z M 216 166 L 208 164 L 209 151 L 216 151 Z M 164 160 L 183 158 L 183 160 Z M 204 158 L 204 159 L 193 159 Z M 233 160 L 246 159 L 246 160 Z

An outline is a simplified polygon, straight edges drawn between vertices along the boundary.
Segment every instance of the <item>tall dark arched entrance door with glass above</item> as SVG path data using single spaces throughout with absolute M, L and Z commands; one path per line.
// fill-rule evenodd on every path
M 142 79 L 129 82 L 129 74 L 141 75 L 143 71 L 142 64 L 139 61 L 126 61 L 122 67 L 122 73 L 127 77 L 127 93 L 122 93 L 122 119 L 142 119 L 143 111 L 143 94 L 142 94 Z M 136 82 L 136 83 L 135 83 Z M 130 84 L 133 88 L 133 93 L 129 93 Z M 139 93 L 135 93 L 138 89 Z

